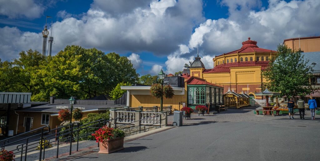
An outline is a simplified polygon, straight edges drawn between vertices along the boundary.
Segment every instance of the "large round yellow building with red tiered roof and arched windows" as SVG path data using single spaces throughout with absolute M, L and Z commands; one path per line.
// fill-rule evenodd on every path
M 213 69 L 205 69 L 200 57 L 196 57 L 190 65 L 190 76 L 223 86 L 224 91 L 230 88 L 236 93 L 247 92 L 249 96 L 255 97 L 254 93 L 260 92 L 262 84 L 266 82 L 261 71 L 266 69 L 275 54 L 274 50 L 259 48 L 257 42 L 249 37 L 242 42 L 239 50 L 213 58 Z

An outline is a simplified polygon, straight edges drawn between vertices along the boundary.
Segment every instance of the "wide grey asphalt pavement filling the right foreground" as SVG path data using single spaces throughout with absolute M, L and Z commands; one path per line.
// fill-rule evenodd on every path
M 320 119 L 272 118 L 184 125 L 72 160 L 320 160 Z

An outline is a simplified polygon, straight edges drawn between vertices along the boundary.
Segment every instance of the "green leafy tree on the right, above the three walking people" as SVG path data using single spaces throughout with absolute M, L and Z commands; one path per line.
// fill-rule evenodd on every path
M 307 63 L 301 51 L 293 52 L 287 46 L 279 45 L 276 56 L 262 73 L 268 81 L 265 87 L 287 97 L 310 94 L 314 90 L 309 83 L 313 69 Z

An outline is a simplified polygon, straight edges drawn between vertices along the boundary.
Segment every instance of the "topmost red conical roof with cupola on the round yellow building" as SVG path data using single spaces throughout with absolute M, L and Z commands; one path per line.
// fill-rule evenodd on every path
M 236 53 L 250 53 L 250 52 L 276 52 L 276 51 L 259 48 L 257 46 L 257 42 L 250 40 L 250 37 L 248 37 L 247 41 L 242 42 L 242 47 L 240 49 L 228 52 L 224 55 L 236 54 Z M 221 54 L 221 55 L 223 55 L 223 54 Z M 221 56 L 221 55 L 219 55 L 219 56 Z

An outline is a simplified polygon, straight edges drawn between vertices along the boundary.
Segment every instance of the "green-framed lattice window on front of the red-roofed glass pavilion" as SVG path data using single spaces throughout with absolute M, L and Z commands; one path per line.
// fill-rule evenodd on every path
M 188 87 L 188 104 L 205 104 L 205 87 Z

